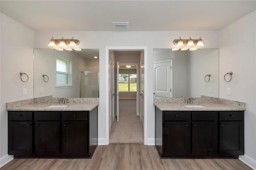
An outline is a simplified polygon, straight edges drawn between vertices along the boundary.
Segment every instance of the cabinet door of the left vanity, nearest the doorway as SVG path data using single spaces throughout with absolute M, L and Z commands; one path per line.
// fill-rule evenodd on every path
M 62 122 L 62 156 L 69 158 L 86 158 L 88 154 L 87 121 Z

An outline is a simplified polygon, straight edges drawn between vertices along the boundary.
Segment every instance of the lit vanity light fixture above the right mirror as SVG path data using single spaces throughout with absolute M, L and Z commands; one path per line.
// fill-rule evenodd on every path
M 182 40 L 181 37 L 178 40 L 174 40 L 173 44 L 175 45 L 174 48 L 172 48 L 172 51 L 177 50 L 190 50 L 195 51 L 200 47 L 204 47 L 204 42 L 201 37 L 199 37 L 198 40 L 192 40 L 191 37 L 188 38 L 188 40 Z

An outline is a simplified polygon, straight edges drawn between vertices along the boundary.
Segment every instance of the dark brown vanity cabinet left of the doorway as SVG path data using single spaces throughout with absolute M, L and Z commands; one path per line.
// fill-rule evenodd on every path
M 98 110 L 8 111 L 8 154 L 15 158 L 91 158 Z

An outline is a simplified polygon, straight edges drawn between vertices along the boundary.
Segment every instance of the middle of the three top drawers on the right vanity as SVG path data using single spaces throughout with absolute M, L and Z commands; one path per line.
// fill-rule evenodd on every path
M 218 112 L 214 111 L 201 111 L 201 112 L 192 112 L 193 121 L 217 121 Z

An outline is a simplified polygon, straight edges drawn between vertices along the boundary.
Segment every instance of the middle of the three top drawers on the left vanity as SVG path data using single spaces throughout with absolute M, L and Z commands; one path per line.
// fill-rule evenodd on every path
M 36 121 L 59 121 L 60 112 L 34 112 L 34 119 Z

